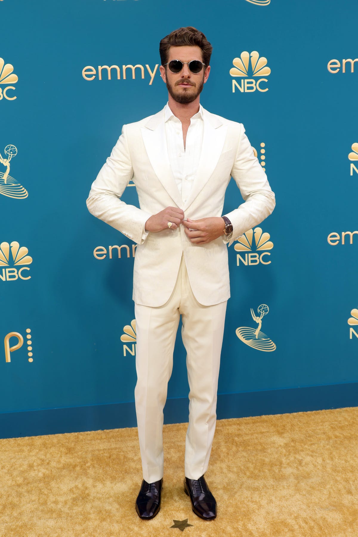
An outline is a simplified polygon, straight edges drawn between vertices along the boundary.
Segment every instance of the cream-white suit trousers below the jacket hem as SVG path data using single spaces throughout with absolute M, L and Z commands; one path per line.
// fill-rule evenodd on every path
M 190 388 L 185 476 L 198 479 L 208 468 L 216 425 L 217 381 L 226 306 L 226 301 L 214 306 L 202 306 L 196 301 L 184 257 L 172 295 L 163 306 L 152 308 L 135 304 L 135 405 L 143 478 L 148 483 L 163 477 L 163 409 L 180 315 Z

